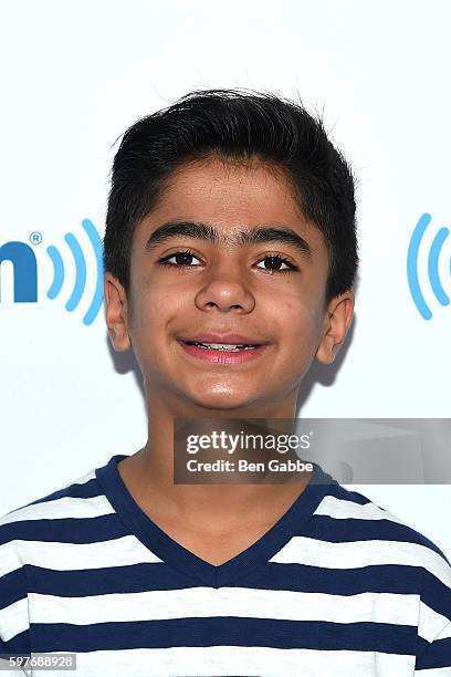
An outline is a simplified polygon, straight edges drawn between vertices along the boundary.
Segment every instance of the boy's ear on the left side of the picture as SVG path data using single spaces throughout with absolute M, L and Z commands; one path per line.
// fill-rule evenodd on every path
M 109 272 L 104 274 L 104 298 L 106 324 L 113 347 L 117 352 L 127 351 L 132 345 L 128 334 L 127 295 L 117 278 Z

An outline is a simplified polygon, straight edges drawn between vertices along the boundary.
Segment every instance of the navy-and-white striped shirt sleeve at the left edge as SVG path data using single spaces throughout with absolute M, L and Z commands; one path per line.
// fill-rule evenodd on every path
M 6 528 L 0 527 L 0 654 L 27 654 L 30 656 L 30 619 L 28 610 L 27 576 L 14 549 L 14 542 L 6 541 Z M 4 663 L 0 659 L 0 664 Z M 1 669 L 1 667 L 0 667 Z M 18 674 L 18 670 L 14 670 Z M 20 670 L 19 674 L 30 674 Z

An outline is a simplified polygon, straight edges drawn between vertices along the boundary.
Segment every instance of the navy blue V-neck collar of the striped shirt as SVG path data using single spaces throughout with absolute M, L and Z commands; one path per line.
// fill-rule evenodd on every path
M 117 464 L 124 458 L 128 456 L 113 456 L 106 466 L 95 470 L 96 478 L 118 517 L 162 562 L 211 587 L 229 585 L 268 562 L 290 541 L 293 532 L 298 533 L 300 525 L 315 511 L 328 492 L 329 485 L 337 485 L 331 475 L 317 464 L 313 464 L 311 481 L 277 522 L 255 543 L 216 566 L 177 543 L 139 508 L 117 468 Z

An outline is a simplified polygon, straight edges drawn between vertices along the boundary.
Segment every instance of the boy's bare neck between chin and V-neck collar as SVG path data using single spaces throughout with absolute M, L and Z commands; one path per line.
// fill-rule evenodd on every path
M 119 465 L 119 472 L 137 502 L 154 514 L 196 524 L 204 532 L 232 530 L 243 522 L 272 523 L 273 514 L 290 507 L 308 483 L 174 483 L 174 421 L 185 419 L 295 419 L 297 392 L 280 403 L 241 409 L 206 409 L 179 400 L 167 402 L 149 395 L 148 439 L 143 449 Z M 284 430 L 286 434 L 286 430 Z M 242 481 L 242 479 L 241 479 Z

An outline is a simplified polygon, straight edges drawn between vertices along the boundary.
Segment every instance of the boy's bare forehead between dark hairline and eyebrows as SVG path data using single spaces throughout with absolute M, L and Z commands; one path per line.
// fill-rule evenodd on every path
M 308 238 L 312 248 L 325 249 L 322 233 L 302 213 L 286 175 L 259 160 L 244 164 L 209 158 L 182 165 L 138 223 L 135 243 L 141 244 L 169 220 L 202 221 L 228 233 L 263 223 L 289 226 Z

